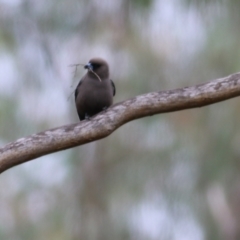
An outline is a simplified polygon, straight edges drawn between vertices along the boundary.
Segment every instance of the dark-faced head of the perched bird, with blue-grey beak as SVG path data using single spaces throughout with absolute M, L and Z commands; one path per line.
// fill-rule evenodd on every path
M 88 69 L 88 74 L 92 78 L 101 79 L 101 81 L 108 79 L 109 77 L 109 67 L 105 60 L 102 58 L 92 58 L 85 66 Z

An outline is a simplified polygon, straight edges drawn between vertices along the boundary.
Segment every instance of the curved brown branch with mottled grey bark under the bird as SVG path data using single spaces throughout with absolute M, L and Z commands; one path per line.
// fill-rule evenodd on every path
M 0 173 L 37 157 L 110 135 L 134 119 L 203 107 L 240 95 L 240 72 L 209 83 L 151 92 L 118 103 L 92 118 L 20 138 L 0 148 Z

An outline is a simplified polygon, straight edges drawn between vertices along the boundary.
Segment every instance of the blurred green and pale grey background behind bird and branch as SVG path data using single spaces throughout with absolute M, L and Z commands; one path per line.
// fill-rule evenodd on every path
M 237 0 L 0 0 L 1 146 L 78 122 L 85 72 L 69 65 L 95 56 L 115 102 L 238 72 L 239 12 Z M 139 119 L 4 172 L 0 239 L 240 239 L 239 109 Z

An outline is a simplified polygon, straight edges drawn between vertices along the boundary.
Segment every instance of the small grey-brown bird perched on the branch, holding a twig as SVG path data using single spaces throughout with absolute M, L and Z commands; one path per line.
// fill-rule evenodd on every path
M 75 104 L 80 121 L 105 110 L 113 103 L 115 85 L 109 78 L 109 67 L 101 58 L 91 59 L 84 66 L 88 72 L 75 90 Z

